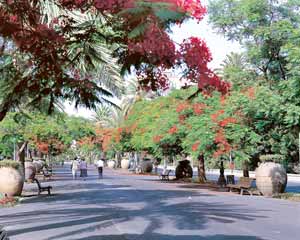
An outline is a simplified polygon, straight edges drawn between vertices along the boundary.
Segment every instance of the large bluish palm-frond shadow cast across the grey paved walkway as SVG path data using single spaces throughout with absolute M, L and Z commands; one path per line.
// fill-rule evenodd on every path
M 129 184 L 93 181 L 87 184 L 67 182 L 65 185 L 58 182 L 56 188 L 59 191 L 65 189 L 65 192 L 25 199 L 22 208 L 8 211 L 5 215 L 0 214 L 0 224 L 10 226 L 8 234 L 12 239 L 21 239 L 23 234 L 37 234 L 47 240 L 76 240 L 76 236 L 83 234 L 88 237 L 77 239 L 254 240 L 260 238 L 234 235 L 177 236 L 156 232 L 166 223 L 172 224 L 176 230 L 201 230 L 208 228 L 209 222 L 231 225 L 237 221 L 251 222 L 266 218 L 265 210 L 228 204 L 222 202 L 222 199 L 210 200 L 213 195 L 200 191 L 135 189 Z M 147 222 L 141 235 L 115 234 L 116 229 L 111 230 L 112 226 L 122 224 L 135 229 L 139 221 Z M 101 236 L 102 230 L 112 234 Z M 47 238 L 44 232 L 48 234 Z

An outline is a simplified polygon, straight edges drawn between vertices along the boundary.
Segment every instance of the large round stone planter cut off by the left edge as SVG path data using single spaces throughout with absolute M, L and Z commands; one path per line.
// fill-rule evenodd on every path
M 20 196 L 23 190 L 23 174 L 11 167 L 0 168 L 0 192 L 8 196 Z

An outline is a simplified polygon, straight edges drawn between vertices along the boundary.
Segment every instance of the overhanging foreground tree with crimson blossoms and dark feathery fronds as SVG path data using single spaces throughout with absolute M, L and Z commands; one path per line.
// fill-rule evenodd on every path
M 58 14 L 47 13 L 49 5 Z M 200 21 L 205 12 L 200 0 L 1 0 L 0 71 L 9 87 L 0 96 L 0 120 L 25 97 L 32 105 L 48 99 L 49 113 L 57 99 L 95 107 L 99 93 L 109 94 L 91 77 L 95 61 L 116 65 L 103 61 L 105 54 L 115 57 L 121 74 L 134 70 L 146 90 L 167 88 L 164 71 L 178 68 L 199 89 L 225 93 L 229 85 L 207 66 L 205 42 L 190 38 L 176 47 L 168 35 L 173 24 Z M 78 14 L 91 17 L 78 22 Z

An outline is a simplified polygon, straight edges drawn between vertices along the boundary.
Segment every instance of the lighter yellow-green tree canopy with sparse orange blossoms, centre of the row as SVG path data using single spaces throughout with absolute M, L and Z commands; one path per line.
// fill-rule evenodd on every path
M 125 126 L 130 128 L 131 133 L 130 138 L 127 138 L 127 145 L 136 151 L 147 151 L 158 158 L 182 154 L 185 128 L 180 124 L 177 110 L 185 108 L 185 98 L 194 91 L 195 89 L 175 91 L 166 97 L 137 102 L 125 121 Z

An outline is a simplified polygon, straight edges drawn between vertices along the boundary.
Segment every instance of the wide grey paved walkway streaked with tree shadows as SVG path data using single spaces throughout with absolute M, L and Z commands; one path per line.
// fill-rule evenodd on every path
M 108 169 L 103 180 L 89 173 L 88 180 L 73 181 L 69 169 L 57 170 L 53 196 L 0 209 L 0 225 L 11 240 L 298 239 L 299 203 L 188 189 Z

